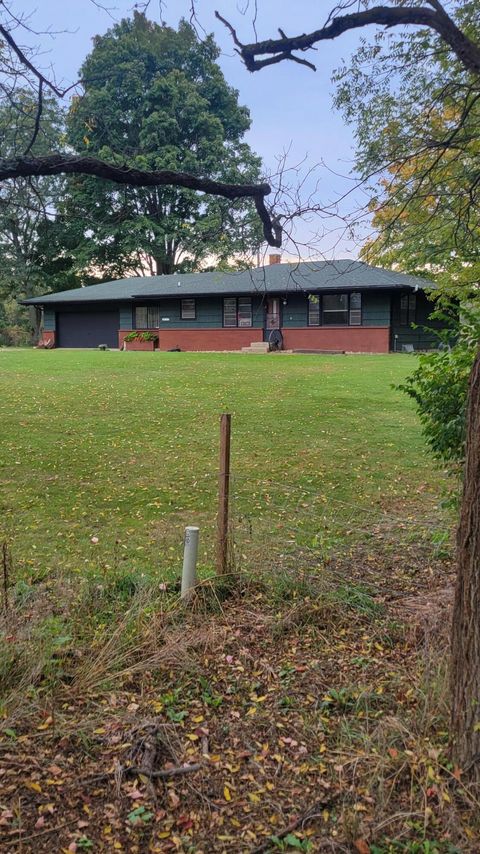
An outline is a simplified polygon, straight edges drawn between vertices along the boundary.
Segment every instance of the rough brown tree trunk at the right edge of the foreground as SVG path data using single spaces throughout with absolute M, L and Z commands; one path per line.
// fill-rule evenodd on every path
M 451 678 L 453 758 L 480 783 L 480 350 L 470 375 Z

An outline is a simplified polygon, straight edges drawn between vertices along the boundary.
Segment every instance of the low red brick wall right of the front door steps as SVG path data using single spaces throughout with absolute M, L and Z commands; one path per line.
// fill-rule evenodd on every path
M 282 329 L 285 350 L 348 350 L 354 353 L 388 353 L 390 327 L 337 326 Z

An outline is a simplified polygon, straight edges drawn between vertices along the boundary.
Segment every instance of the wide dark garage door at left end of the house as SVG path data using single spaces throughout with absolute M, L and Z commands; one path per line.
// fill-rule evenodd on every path
M 118 347 L 118 311 L 60 311 L 57 347 Z

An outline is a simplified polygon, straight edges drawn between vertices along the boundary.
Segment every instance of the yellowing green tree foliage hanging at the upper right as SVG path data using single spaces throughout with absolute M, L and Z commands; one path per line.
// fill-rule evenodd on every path
M 477 37 L 476 3 L 457 23 Z M 429 30 L 378 33 L 336 74 L 355 126 L 374 233 L 362 257 L 427 274 L 436 296 L 475 296 L 480 273 L 480 85 Z

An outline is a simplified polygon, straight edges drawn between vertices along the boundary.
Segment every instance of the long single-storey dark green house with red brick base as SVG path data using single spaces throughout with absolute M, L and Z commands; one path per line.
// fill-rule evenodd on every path
M 279 262 L 122 279 L 23 304 L 42 311 L 42 343 L 55 347 L 122 348 L 132 330 L 154 332 L 160 350 L 240 350 L 272 339 L 287 350 L 361 353 L 436 345 L 423 328 L 427 280 L 361 261 Z

